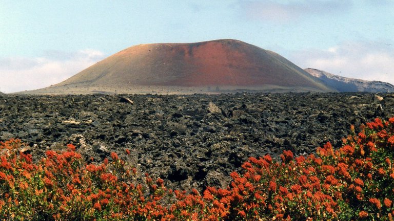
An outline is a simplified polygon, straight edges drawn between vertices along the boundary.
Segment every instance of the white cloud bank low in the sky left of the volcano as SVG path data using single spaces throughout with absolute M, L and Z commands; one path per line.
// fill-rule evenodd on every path
M 59 83 L 104 58 L 95 50 L 47 52 L 43 57 L 0 58 L 0 91 L 12 93 Z

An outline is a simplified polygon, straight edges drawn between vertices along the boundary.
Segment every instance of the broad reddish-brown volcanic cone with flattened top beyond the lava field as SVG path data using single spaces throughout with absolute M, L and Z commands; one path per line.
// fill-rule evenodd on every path
M 329 91 L 277 53 L 223 39 L 155 43 L 118 52 L 55 85 L 302 86 Z

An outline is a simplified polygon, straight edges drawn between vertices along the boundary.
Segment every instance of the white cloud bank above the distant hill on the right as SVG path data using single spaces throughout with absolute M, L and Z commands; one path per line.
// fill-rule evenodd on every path
M 327 50 L 293 52 L 289 59 L 302 68 L 394 84 L 393 47 L 379 42 L 345 42 Z

